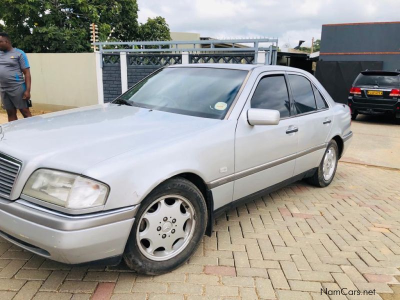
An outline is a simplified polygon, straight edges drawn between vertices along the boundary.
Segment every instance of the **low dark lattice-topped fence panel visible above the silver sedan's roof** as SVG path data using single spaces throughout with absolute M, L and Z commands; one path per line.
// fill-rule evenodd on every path
M 254 53 L 189 54 L 189 63 L 254 63 Z

